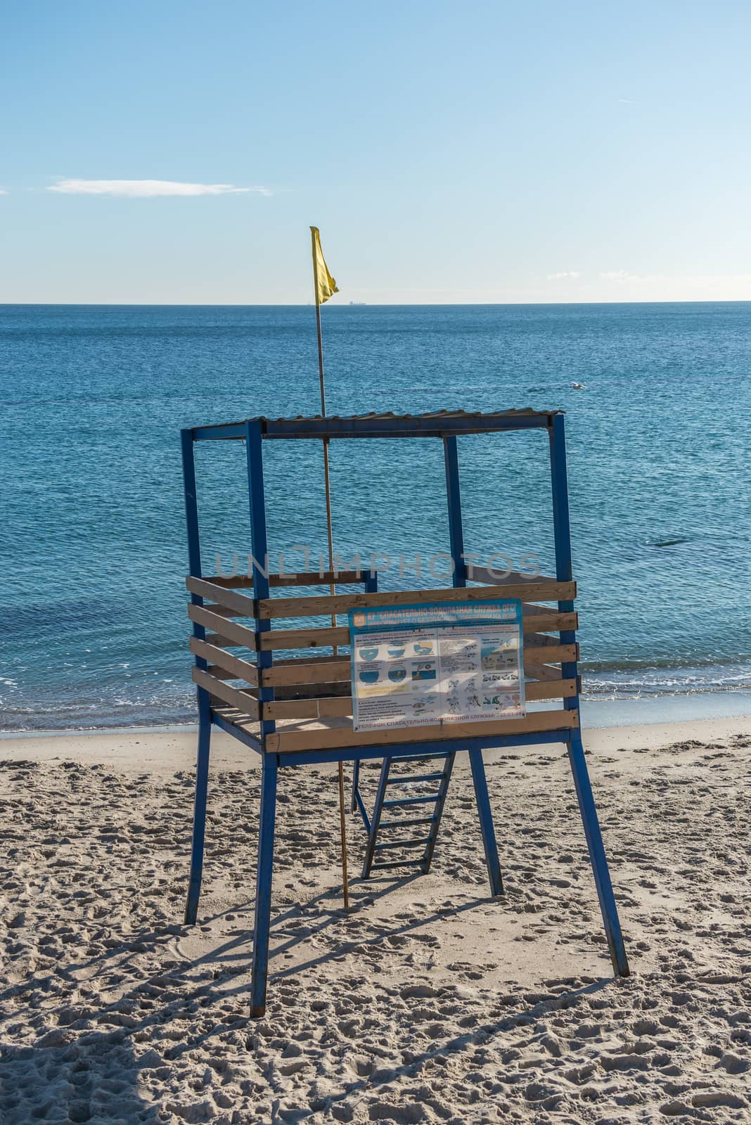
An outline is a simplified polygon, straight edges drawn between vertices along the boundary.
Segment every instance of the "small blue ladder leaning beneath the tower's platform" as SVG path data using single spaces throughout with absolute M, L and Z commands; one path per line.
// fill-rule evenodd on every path
M 454 757 L 454 753 L 446 753 L 383 758 L 372 819 L 368 817 L 360 794 L 360 771 L 355 768 L 352 785 L 352 809 L 353 811 L 355 808 L 360 809 L 368 832 L 368 848 L 362 867 L 363 879 L 368 879 L 371 872 L 393 867 L 418 867 L 422 874 L 426 874 L 431 870 Z M 442 766 L 432 770 L 431 763 L 437 764 L 438 762 L 442 763 Z M 417 765 L 417 773 L 391 772 L 395 765 L 402 763 Z M 360 763 L 356 763 L 356 766 L 359 765 Z M 395 796 L 388 796 L 389 792 L 395 792 L 396 786 L 399 786 L 400 792 L 397 792 Z M 429 791 L 425 792 L 426 789 Z M 415 811 L 419 811 L 420 808 L 425 808 L 425 816 L 405 817 L 401 814 L 402 810 L 415 809 Z M 384 811 L 387 820 L 382 819 Z M 396 853 L 395 857 L 390 857 L 390 853 Z M 411 855 L 402 853 L 411 853 Z M 418 853 L 417 856 L 415 853 Z M 381 858 L 382 856 L 383 858 Z

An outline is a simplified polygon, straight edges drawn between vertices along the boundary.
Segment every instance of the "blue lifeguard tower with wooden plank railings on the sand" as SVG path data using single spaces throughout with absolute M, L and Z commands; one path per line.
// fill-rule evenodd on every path
M 497 434 L 503 440 L 508 432 L 526 430 L 545 430 L 549 436 L 555 575 L 532 577 L 515 573 L 499 582 L 487 569 L 469 567 L 464 559 L 459 439 Z M 379 593 L 377 575 L 370 570 L 270 574 L 265 565 L 264 442 L 404 438 L 443 443 L 447 546 L 454 562 L 452 587 Z M 193 446 L 211 441 L 245 444 L 253 559 L 250 575 L 201 574 Z M 454 757 L 467 753 L 490 891 L 496 896 L 503 892 L 503 882 L 482 752 L 490 747 L 563 742 L 568 748 L 613 968 L 617 974 L 627 975 L 628 963 L 581 741 L 578 622 L 573 609 L 576 584 L 571 575 L 563 415 L 525 410 L 487 414 L 442 411 L 401 416 L 256 417 L 183 430 L 182 458 L 190 564 L 188 613 L 193 628 L 190 649 L 196 658 L 192 676 L 198 687 L 199 719 L 186 921 L 194 922 L 198 912 L 209 745 L 211 728 L 218 727 L 261 756 L 252 1015 L 262 1016 L 265 1008 L 278 772 L 323 762 L 354 763 L 352 802 L 353 808 L 360 809 L 368 834 L 363 865 L 367 878 L 380 868 L 428 870 Z M 362 586 L 362 591 L 336 592 L 337 586 L 352 585 Z M 292 596 L 275 596 L 278 587 L 289 587 Z M 328 592 L 309 594 L 305 587 L 328 587 Z M 344 623 L 346 614 L 362 611 L 364 616 L 379 608 L 398 610 L 428 602 L 469 612 L 472 603 L 487 604 L 488 600 L 518 605 L 524 695 L 533 709 L 516 718 L 440 720 L 396 729 L 358 729 L 353 721 L 358 701 L 351 690 L 354 654 L 351 629 Z M 305 624 L 306 619 L 311 618 L 314 622 Z M 322 626 L 322 618 L 331 623 Z M 292 628 L 286 627 L 290 621 Z M 290 652 L 305 655 L 290 656 Z M 382 759 L 371 813 L 358 783 L 359 765 L 368 758 Z M 390 799 L 392 767 L 402 764 L 416 768 L 416 773 L 406 777 L 415 788 L 411 794 Z M 404 785 L 406 775 L 398 776 Z

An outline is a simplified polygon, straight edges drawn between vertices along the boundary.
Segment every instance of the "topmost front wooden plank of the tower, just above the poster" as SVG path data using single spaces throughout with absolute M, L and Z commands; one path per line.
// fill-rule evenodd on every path
M 525 598 L 537 602 L 572 601 L 577 596 L 573 582 L 534 582 L 496 586 L 460 587 L 455 590 L 399 590 L 380 594 L 335 594 L 311 597 L 263 597 L 257 603 L 263 621 L 273 618 L 319 616 L 346 613 L 349 610 L 374 609 L 379 605 L 409 605 L 420 602 L 477 602 L 485 598 Z

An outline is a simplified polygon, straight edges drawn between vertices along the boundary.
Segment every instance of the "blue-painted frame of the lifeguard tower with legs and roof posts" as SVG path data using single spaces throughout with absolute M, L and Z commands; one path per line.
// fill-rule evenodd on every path
M 201 577 L 200 539 L 198 524 L 198 504 L 196 498 L 196 471 L 193 460 L 193 443 L 197 441 L 244 440 L 247 457 L 247 483 L 250 502 L 251 542 L 253 548 L 253 596 L 262 600 L 269 596 L 269 578 L 263 565 L 266 558 L 266 519 L 263 487 L 263 441 L 265 439 L 315 439 L 324 438 L 440 438 L 443 440 L 444 464 L 446 474 L 446 500 L 449 510 L 449 538 L 451 555 L 454 559 L 453 585 L 467 585 L 468 570 L 463 558 L 464 543 L 462 531 L 461 493 L 459 480 L 459 460 L 456 438 L 461 434 L 495 433 L 501 431 L 518 431 L 544 429 L 550 440 L 550 465 L 553 495 L 553 528 L 555 538 L 555 575 L 561 582 L 571 580 L 571 536 L 569 526 L 569 502 L 565 471 L 565 438 L 563 415 L 557 412 L 509 412 L 505 414 L 428 414 L 418 416 L 364 415 L 362 417 L 315 417 L 315 418 L 251 418 L 245 422 L 226 425 L 198 426 L 183 430 L 182 458 L 183 483 L 186 493 L 186 520 L 188 528 L 188 556 L 190 574 Z M 364 575 L 365 592 L 377 588 L 377 575 Z M 191 594 L 193 604 L 202 605 L 202 598 Z M 573 609 L 572 602 L 559 602 L 561 612 Z M 263 633 L 271 628 L 271 621 L 255 621 L 255 631 Z M 205 629 L 193 623 L 193 636 L 202 639 Z M 574 631 L 560 632 L 562 644 L 576 641 Z M 272 700 L 273 688 L 264 686 L 263 672 L 273 664 L 272 651 L 259 651 L 259 698 Z M 196 665 L 206 668 L 206 660 L 196 657 Z M 572 678 L 578 685 L 577 662 L 562 665 L 563 678 Z M 579 691 L 563 701 L 567 711 L 579 712 Z M 208 794 L 208 770 L 211 724 L 239 739 L 245 746 L 255 750 L 262 757 L 261 811 L 259 818 L 259 860 L 256 873 L 255 919 L 253 942 L 253 964 L 251 986 L 251 1009 L 253 1016 L 262 1016 L 265 1008 L 265 991 L 269 970 L 269 928 L 271 919 L 271 889 L 273 871 L 274 826 L 277 806 L 277 777 L 280 768 L 300 765 L 313 765 L 325 762 L 354 762 L 355 784 L 353 786 L 353 810 L 355 804 L 363 814 L 365 826 L 368 813 L 358 802 L 356 778 L 360 763 L 364 759 L 383 758 L 383 747 L 350 746 L 327 750 L 305 750 L 290 754 L 266 753 L 265 737 L 275 729 L 275 723 L 264 720 L 261 723 L 260 738 L 250 731 L 235 726 L 221 714 L 212 712 L 209 693 L 198 688 L 199 737 L 196 776 L 196 804 L 193 818 L 193 839 L 191 848 L 190 886 L 186 906 L 186 921 L 194 922 L 198 911 L 198 900 L 201 885 L 203 862 L 203 844 L 206 832 L 206 809 Z M 480 818 L 482 844 L 494 894 L 503 893 L 498 848 L 492 822 L 492 812 L 488 796 L 487 777 L 482 762 L 482 750 L 490 747 L 540 745 L 543 742 L 564 741 L 568 748 L 571 773 L 573 776 L 577 799 L 589 849 L 590 863 L 595 875 L 595 884 L 599 898 L 603 920 L 610 951 L 613 966 L 622 976 L 628 974 L 628 962 L 621 934 L 618 914 L 613 894 L 607 858 L 603 845 L 603 836 L 597 819 L 597 810 L 591 792 L 591 784 L 585 759 L 580 729 L 553 730 L 527 735 L 487 736 L 476 738 L 440 739 L 431 741 L 409 741 L 389 745 L 388 756 L 391 759 L 414 757 L 419 754 L 468 752 L 472 771 L 472 781 Z

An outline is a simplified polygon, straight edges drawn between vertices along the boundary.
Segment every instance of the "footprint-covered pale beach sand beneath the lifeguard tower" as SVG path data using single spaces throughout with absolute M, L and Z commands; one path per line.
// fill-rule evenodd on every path
M 488 755 L 503 899 L 461 762 L 431 874 L 355 878 L 349 917 L 334 774 L 283 773 L 262 1020 L 257 759 L 217 736 L 189 929 L 193 742 L 0 742 L 3 1125 L 751 1120 L 751 719 L 587 739 L 623 981 L 562 747 Z

